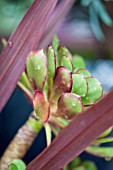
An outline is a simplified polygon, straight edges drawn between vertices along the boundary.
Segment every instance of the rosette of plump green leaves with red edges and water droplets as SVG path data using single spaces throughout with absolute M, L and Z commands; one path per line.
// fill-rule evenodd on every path
M 83 58 L 59 46 L 56 36 L 47 50 L 29 54 L 26 72 L 34 110 L 43 123 L 52 115 L 71 119 L 102 96 L 100 82 L 85 67 Z

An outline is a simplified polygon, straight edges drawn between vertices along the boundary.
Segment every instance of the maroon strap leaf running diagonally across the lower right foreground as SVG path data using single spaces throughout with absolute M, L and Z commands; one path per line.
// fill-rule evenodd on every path
M 59 170 L 78 156 L 99 135 L 113 125 L 113 90 L 80 114 L 53 143 L 28 166 L 27 170 Z

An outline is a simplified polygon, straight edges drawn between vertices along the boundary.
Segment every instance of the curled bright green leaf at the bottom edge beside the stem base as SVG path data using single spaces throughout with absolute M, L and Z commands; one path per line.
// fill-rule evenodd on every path
M 26 169 L 26 165 L 20 159 L 13 160 L 8 166 L 8 170 L 25 170 L 25 169 Z

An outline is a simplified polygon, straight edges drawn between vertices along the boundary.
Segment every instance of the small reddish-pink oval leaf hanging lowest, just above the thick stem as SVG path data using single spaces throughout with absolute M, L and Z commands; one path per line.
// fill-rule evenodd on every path
M 47 122 L 50 114 L 50 106 L 41 91 L 35 91 L 33 106 L 36 116 L 43 122 Z

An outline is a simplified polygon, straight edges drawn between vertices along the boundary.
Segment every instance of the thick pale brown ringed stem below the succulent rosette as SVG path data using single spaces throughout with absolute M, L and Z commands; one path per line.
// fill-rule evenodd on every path
M 42 123 L 31 114 L 4 152 L 0 160 L 0 170 L 7 170 L 9 162 L 24 157 L 41 128 Z

